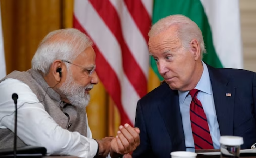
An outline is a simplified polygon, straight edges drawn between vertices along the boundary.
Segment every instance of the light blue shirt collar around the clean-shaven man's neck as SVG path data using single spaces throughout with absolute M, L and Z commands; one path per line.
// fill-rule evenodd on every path
M 212 94 L 212 91 L 211 91 L 212 86 L 211 86 L 211 80 L 210 80 L 210 76 L 209 76 L 208 67 L 206 66 L 206 64 L 203 61 L 202 61 L 202 64 L 203 64 L 203 73 L 202 73 L 201 79 L 195 86 L 195 89 L 198 89 L 201 92 L 205 92 L 205 93 L 211 95 Z M 186 99 L 188 92 L 189 91 L 178 91 L 179 101 L 181 104 L 184 103 L 184 100 Z

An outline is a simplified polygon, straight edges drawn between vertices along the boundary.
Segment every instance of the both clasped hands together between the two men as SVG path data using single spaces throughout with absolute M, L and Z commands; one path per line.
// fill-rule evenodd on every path
M 120 158 L 122 155 L 134 151 L 140 143 L 139 132 L 138 128 L 133 128 L 131 125 L 120 125 L 116 138 L 105 137 L 96 140 L 99 146 L 96 158 L 106 158 L 109 153 L 111 158 Z

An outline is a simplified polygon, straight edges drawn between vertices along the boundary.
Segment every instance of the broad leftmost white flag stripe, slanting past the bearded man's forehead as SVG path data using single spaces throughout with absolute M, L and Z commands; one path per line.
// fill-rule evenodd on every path
M 81 1 L 81 2 L 80 2 Z M 122 78 L 122 53 L 118 41 L 115 39 L 104 21 L 88 0 L 80 0 L 75 3 L 75 16 L 80 24 L 95 42 L 104 58 L 108 61 L 111 68 L 116 72 L 118 79 Z M 77 5 L 79 4 L 79 5 Z M 86 9 L 84 9 L 86 8 Z M 76 11 L 79 11 L 77 13 Z M 88 14 L 90 13 L 90 15 Z M 95 31 L 97 30 L 97 31 Z M 100 36 L 99 36 L 100 34 Z

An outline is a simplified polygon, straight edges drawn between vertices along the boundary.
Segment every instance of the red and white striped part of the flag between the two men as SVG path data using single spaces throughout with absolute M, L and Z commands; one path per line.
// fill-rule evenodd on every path
M 95 44 L 96 71 L 122 125 L 134 125 L 137 101 L 147 92 L 152 5 L 152 0 L 75 0 L 74 27 Z

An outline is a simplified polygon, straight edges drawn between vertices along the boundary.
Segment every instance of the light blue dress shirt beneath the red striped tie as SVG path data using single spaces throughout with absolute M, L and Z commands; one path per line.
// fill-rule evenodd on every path
M 208 67 L 202 61 L 203 73 L 201 79 L 197 83 L 195 89 L 200 90 L 197 94 L 197 99 L 201 101 L 204 112 L 206 114 L 209 130 L 213 140 L 214 149 L 220 149 L 220 128 L 217 120 L 214 97 L 212 91 L 211 80 L 208 72 Z M 189 91 L 179 93 L 180 112 L 183 124 L 183 130 L 185 135 L 186 151 L 195 151 L 194 149 L 194 138 L 191 130 L 189 108 L 191 103 L 191 96 L 188 94 Z

